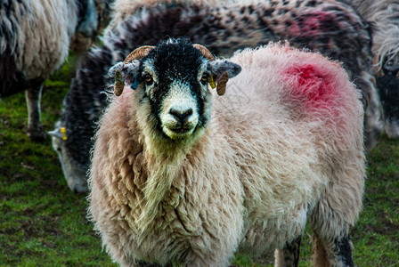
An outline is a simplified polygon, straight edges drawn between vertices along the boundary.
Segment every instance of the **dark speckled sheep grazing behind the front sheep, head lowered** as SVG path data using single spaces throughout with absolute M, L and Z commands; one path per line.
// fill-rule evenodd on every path
M 367 106 L 367 147 L 373 146 L 383 125 L 371 76 L 371 36 L 368 25 L 352 7 L 331 1 L 294 0 L 226 2 L 216 6 L 201 2 L 136 2 L 115 3 L 117 9 L 104 31 L 103 45 L 94 47 L 77 71 L 64 99 L 61 118 L 51 132 L 53 148 L 71 190 L 87 190 L 85 174 L 95 121 L 108 105 L 101 93 L 111 83 L 108 69 L 140 44 L 156 44 L 166 36 L 187 37 L 207 45 L 218 56 L 288 39 L 292 45 L 343 61 L 349 77 L 362 90 L 362 101 Z M 312 30 L 312 23 L 319 28 Z M 61 129 L 66 131 L 67 140 L 62 139 Z

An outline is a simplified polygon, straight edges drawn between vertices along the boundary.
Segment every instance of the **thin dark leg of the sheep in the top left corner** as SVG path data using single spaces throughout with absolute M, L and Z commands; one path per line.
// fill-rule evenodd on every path
M 28 136 L 32 140 L 45 140 L 46 134 L 41 124 L 40 101 L 42 98 L 43 80 L 35 79 L 30 81 L 26 91 L 28 108 Z

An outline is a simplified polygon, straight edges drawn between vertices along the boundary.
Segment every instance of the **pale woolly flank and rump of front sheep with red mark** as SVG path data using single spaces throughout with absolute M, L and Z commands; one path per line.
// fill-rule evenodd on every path
M 282 246 L 300 235 L 306 213 L 326 238 L 347 233 L 365 177 L 359 91 L 338 61 L 318 53 L 271 45 L 232 61 L 242 71 L 226 96 L 215 98 L 214 117 L 223 117 L 220 128 L 243 166 L 251 226 L 241 247 L 256 255 L 256 247 Z M 273 226 L 262 220 L 271 214 Z

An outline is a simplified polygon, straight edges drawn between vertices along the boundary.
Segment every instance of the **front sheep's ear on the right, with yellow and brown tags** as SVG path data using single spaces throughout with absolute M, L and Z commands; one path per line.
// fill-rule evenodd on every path
M 216 92 L 219 95 L 224 95 L 229 78 L 236 77 L 240 73 L 241 67 L 239 64 L 226 60 L 209 61 L 209 65 L 217 83 Z

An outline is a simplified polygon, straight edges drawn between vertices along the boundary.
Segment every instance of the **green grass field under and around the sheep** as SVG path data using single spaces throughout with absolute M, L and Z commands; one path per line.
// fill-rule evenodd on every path
M 73 76 L 66 64 L 45 82 L 42 121 L 46 131 L 60 117 Z M 84 194 L 65 182 L 50 139 L 26 136 L 23 93 L 0 101 L 0 266 L 116 266 L 85 219 Z M 399 142 L 381 136 L 367 156 L 364 208 L 351 232 L 356 266 L 399 266 Z M 312 232 L 305 231 L 300 266 L 310 266 Z M 266 266 L 238 256 L 236 266 Z

